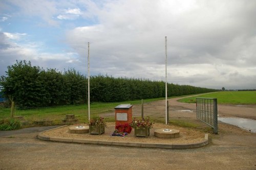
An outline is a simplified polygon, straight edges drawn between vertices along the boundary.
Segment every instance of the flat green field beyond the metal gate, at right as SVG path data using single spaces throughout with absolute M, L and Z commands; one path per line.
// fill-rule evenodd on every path
M 196 103 L 196 98 L 217 98 L 218 104 L 255 105 L 256 91 L 220 91 L 180 99 L 179 102 Z

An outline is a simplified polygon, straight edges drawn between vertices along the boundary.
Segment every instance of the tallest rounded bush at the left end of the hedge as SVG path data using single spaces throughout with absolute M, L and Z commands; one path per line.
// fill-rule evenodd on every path
M 20 61 L 8 66 L 7 77 L 1 77 L 4 95 L 20 107 L 36 107 L 44 103 L 46 91 L 41 88 L 41 68 L 30 62 Z

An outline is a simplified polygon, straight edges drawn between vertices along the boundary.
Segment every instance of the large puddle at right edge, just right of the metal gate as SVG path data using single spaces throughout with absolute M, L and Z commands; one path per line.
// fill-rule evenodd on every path
M 256 133 L 256 120 L 236 117 L 218 117 L 221 122 Z

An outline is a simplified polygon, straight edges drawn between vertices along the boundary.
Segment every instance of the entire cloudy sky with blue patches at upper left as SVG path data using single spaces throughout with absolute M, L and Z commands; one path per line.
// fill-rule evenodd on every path
M 87 75 L 256 89 L 256 1 L 0 1 L 0 75 L 16 60 Z

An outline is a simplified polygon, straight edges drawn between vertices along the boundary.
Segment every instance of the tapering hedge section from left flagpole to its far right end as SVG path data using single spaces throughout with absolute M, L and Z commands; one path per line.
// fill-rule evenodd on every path
M 152 99 L 165 96 L 165 82 L 147 79 L 114 78 L 93 76 L 91 80 L 91 100 L 95 102 L 119 102 L 137 99 Z M 217 91 L 215 89 L 189 85 L 167 84 L 168 96 L 179 96 Z

